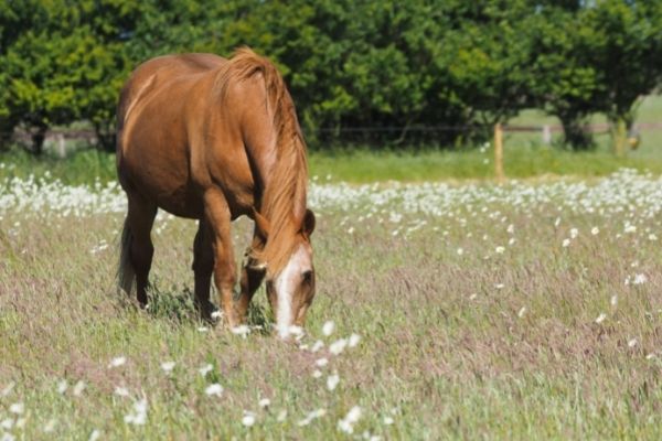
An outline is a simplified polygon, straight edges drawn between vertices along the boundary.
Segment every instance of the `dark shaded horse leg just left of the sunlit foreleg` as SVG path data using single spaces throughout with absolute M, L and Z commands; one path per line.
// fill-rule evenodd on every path
M 193 241 L 193 273 L 195 275 L 195 306 L 203 320 L 211 320 L 214 306 L 210 302 L 212 272 L 214 271 L 214 248 L 212 230 L 206 219 L 200 219 Z

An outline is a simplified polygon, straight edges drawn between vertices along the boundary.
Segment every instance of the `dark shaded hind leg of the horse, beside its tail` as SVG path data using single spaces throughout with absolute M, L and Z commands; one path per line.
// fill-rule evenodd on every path
M 151 268 L 154 246 L 151 241 L 151 228 L 157 215 L 157 205 L 145 201 L 136 193 L 127 193 L 129 214 L 127 226 L 130 232 L 129 262 L 136 275 L 137 298 L 140 305 L 147 305 L 148 276 Z

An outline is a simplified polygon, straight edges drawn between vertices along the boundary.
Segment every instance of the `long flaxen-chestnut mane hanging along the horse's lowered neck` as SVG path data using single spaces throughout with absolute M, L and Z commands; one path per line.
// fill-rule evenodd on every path
M 264 77 L 267 105 L 274 116 L 276 161 L 258 205 L 260 214 L 269 220 L 269 237 L 263 249 L 253 250 L 253 257 L 267 262 L 269 273 L 276 275 L 293 252 L 293 239 L 306 213 L 308 163 L 295 105 L 276 66 L 248 47 L 235 51 L 221 67 L 215 86 L 225 96 L 233 82 L 257 73 Z

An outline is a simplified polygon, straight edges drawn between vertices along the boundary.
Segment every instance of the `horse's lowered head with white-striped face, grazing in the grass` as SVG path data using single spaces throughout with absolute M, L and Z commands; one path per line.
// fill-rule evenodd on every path
M 287 249 L 292 251 L 281 259 L 284 265 L 270 268 L 269 262 L 266 262 L 267 297 L 281 338 L 287 338 L 296 330 L 292 326 L 303 326 L 306 313 L 314 297 L 314 266 L 310 245 L 314 222 L 314 214 L 307 209 L 296 234 L 288 238 L 288 241 L 295 243 L 287 244 Z M 258 215 L 256 225 L 268 236 L 270 228 L 264 217 Z

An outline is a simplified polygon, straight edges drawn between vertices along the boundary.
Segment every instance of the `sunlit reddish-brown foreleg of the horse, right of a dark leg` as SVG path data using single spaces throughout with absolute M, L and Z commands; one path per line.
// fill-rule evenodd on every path
M 241 323 L 237 315 L 233 290 L 237 279 L 236 265 L 229 226 L 232 222 L 229 207 L 225 196 L 218 190 L 210 190 L 204 196 L 205 215 L 212 233 L 212 247 L 214 251 L 214 283 L 218 290 L 218 300 L 231 327 Z

